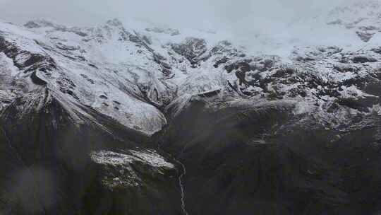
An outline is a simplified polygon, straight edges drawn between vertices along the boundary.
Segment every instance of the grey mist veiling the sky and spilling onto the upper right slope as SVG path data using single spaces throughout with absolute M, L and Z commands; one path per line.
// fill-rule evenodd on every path
M 23 24 L 34 18 L 48 18 L 80 27 L 92 27 L 112 18 L 125 25 L 137 20 L 169 28 L 212 31 L 218 40 L 234 41 L 253 52 L 283 54 L 289 50 L 284 44 L 293 46 L 289 41 L 303 37 L 310 40 L 304 41 L 310 45 L 327 38 L 325 29 L 317 29 L 319 25 L 310 23 L 298 29 L 291 28 L 295 27 L 293 23 L 358 1 L 366 0 L 0 0 L 0 19 Z M 334 36 L 329 34 L 332 39 Z M 262 40 L 253 40 L 258 35 Z M 272 45 L 267 45 L 267 40 Z M 332 41 L 341 42 L 341 35 Z

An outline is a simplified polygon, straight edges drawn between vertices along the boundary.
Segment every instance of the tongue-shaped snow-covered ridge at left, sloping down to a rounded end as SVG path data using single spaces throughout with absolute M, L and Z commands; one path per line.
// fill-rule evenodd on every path
M 54 30 L 51 32 L 52 27 L 47 27 L 45 30 L 47 30 L 49 38 L 46 38 L 41 33 L 28 32 L 24 28 L 16 26 L 8 28 L 8 25 L 6 25 L 4 30 L 12 30 L 13 28 L 16 28 L 16 33 L 24 33 L 23 35 L 3 33 L 5 35 L 4 40 L 19 50 L 20 54 L 14 57 L 13 63 L 23 65 L 33 54 L 52 59 L 54 66 L 49 65 L 48 69 L 37 69 L 34 71 L 35 76 L 47 82 L 47 88 L 51 91 L 66 94 L 63 96 L 73 103 L 91 106 L 99 110 L 99 112 L 119 118 L 122 124 L 129 124 L 129 127 L 138 130 L 143 129 L 143 132 L 148 134 L 157 132 L 162 127 L 162 124 L 165 123 L 164 117 L 155 107 L 140 101 L 139 97 L 143 97 L 143 95 L 134 95 L 140 92 L 138 86 L 133 83 L 133 81 L 138 80 L 133 79 L 134 71 L 131 70 L 136 69 L 142 74 L 145 72 L 138 65 L 126 68 L 127 66 L 122 67 L 115 63 L 104 63 L 102 55 L 99 54 L 101 55 L 100 57 L 96 56 L 99 52 L 91 50 L 92 46 L 84 45 L 90 51 L 79 48 L 83 44 L 80 42 L 80 38 L 78 38 L 80 36 L 75 33 L 61 34 L 61 31 L 56 32 Z M 28 32 L 28 34 L 24 31 Z M 111 31 L 108 33 L 111 33 Z M 59 37 L 66 37 L 66 39 L 60 40 Z M 97 40 L 99 39 L 99 37 L 96 38 Z M 63 42 L 66 42 L 66 44 L 63 44 Z M 112 47 L 112 45 L 110 46 Z M 92 60 L 83 59 L 81 56 L 81 53 L 87 52 L 95 53 L 95 56 L 91 53 L 89 56 L 86 56 L 86 58 Z M 75 57 L 78 60 L 75 60 Z M 3 58 L 7 60 L 4 54 L 2 55 Z M 97 60 L 93 58 L 97 58 Z M 9 59 L 7 62 L 9 63 Z M 92 64 L 94 62 L 97 62 L 99 67 Z M 9 68 L 12 67 L 9 66 Z M 15 71 L 13 67 L 13 74 L 21 74 L 21 70 L 29 69 L 28 65 L 27 67 L 25 69 L 20 68 L 19 71 Z M 124 74 L 122 77 L 119 77 L 119 71 Z M 25 74 L 25 71 L 23 73 Z M 24 80 L 23 78 L 25 76 L 20 79 Z M 28 88 L 28 91 L 30 90 Z M 126 96 L 126 93 L 131 95 Z M 112 95 L 112 98 L 107 98 L 109 94 Z

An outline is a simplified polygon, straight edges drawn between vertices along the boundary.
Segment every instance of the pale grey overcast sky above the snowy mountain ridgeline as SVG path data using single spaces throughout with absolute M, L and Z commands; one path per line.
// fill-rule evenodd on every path
M 109 18 L 138 18 L 169 25 L 228 28 L 279 23 L 308 16 L 345 0 L 0 0 L 0 19 L 23 23 L 51 18 L 93 25 Z M 348 0 L 346 0 L 348 1 Z

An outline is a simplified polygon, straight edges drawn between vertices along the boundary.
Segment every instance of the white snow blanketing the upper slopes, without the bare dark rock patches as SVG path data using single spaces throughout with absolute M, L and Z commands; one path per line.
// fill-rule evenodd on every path
M 227 74 L 224 64 L 214 68 L 214 63 L 224 57 L 229 58 L 229 62 L 235 62 L 261 53 L 259 57 L 272 59 L 279 67 L 298 67 L 324 83 L 342 83 L 353 77 L 367 75 L 368 69 L 374 68 L 374 64 L 369 64 L 368 67 L 351 64 L 359 69 L 358 72 L 337 71 L 333 68 L 341 65 L 338 62 L 340 54 L 368 52 L 370 47 L 381 46 L 379 32 L 375 32 L 368 43 L 356 35 L 356 31 L 363 27 L 381 29 L 381 7 L 376 3 L 344 3 L 330 12 L 316 14 L 318 16 L 311 14 L 310 18 L 296 20 L 286 29 L 279 26 L 279 30 L 274 33 L 258 33 L 250 41 L 229 38 L 229 34 L 221 32 L 174 30 L 168 26 L 132 20 L 124 24 L 112 20 L 94 28 L 67 27 L 54 21 L 38 20 L 36 23 L 42 25 L 42 28 L 31 29 L 0 21 L 0 37 L 22 51 L 15 59 L 18 63 L 28 60 L 29 53 L 41 54 L 54 60 L 56 69 L 48 72 L 39 70 L 36 75 L 48 83 L 47 87 L 55 96 L 63 98 L 71 112 L 83 112 L 78 108 L 81 105 L 90 106 L 126 127 L 152 135 L 167 124 L 159 108 L 174 108 L 179 113 L 193 96 L 216 90 L 224 93 L 228 81 L 231 84 L 238 83 L 235 71 Z M 332 24 L 337 20 L 341 22 Z M 221 46 L 222 50 L 205 61 L 201 60 L 200 66 L 193 68 L 185 57 L 171 48 L 172 44 L 181 43 L 188 37 L 205 40 L 207 52 L 202 57 L 206 57 L 216 45 Z M 233 45 L 221 42 L 226 38 Z M 143 44 L 143 40 L 147 41 Z M 240 45 L 245 45 L 246 48 Z M 342 49 L 339 54 L 336 46 Z M 240 57 L 242 54 L 246 57 Z M 269 54 L 277 54 L 279 57 Z M 168 76 L 162 72 L 163 66 L 155 62 L 157 56 L 161 56 L 159 58 L 162 62 L 171 67 Z M 301 63 L 298 57 L 312 57 L 314 61 Z M 380 59 L 380 56 L 375 57 Z M 7 77 L 0 80 L 1 100 L 11 101 L 21 93 L 36 89 L 28 78 L 30 74 L 23 74 L 23 71 L 14 66 L 12 59 L 1 54 L 0 63 L 0 69 L 3 68 L 0 77 Z M 253 71 L 250 77 L 246 76 L 246 81 L 255 81 L 251 76 L 257 72 Z M 275 70 L 262 71 L 259 74 L 266 78 L 274 72 Z M 296 71 L 293 75 L 298 78 L 300 73 Z M 12 80 L 19 81 L 25 87 L 13 88 Z M 239 86 L 237 91 L 241 96 L 241 91 L 257 93 L 256 97 L 251 98 L 256 99 L 275 91 L 288 93 L 303 87 L 302 83 L 300 80 L 296 83 L 269 83 L 267 93 L 259 86 L 242 89 Z M 323 86 L 306 89 L 307 97 L 298 98 L 302 102 L 298 103 L 296 112 L 313 111 L 311 104 L 316 103 L 315 95 L 324 90 L 327 89 Z M 351 86 L 342 88 L 341 96 L 370 95 Z M 327 102 L 333 100 L 329 96 L 322 99 Z M 322 99 L 317 102 L 320 106 Z M 4 107 L 4 103 L 1 107 Z

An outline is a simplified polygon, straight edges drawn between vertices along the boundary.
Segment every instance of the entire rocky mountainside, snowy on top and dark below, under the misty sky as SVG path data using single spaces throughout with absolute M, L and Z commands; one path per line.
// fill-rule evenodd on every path
M 0 22 L 0 214 L 377 213 L 377 8 L 318 18 L 351 45 L 282 55 L 118 20 Z

